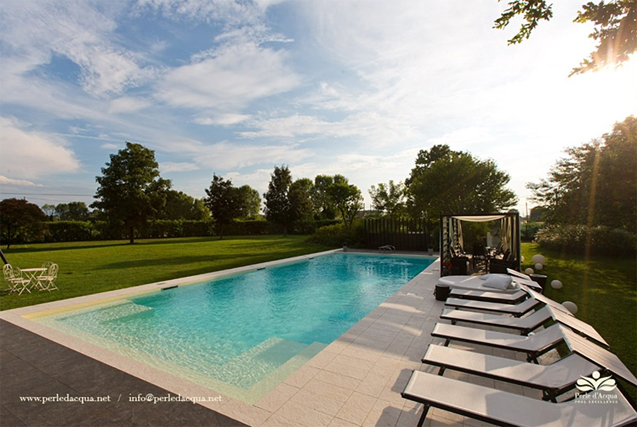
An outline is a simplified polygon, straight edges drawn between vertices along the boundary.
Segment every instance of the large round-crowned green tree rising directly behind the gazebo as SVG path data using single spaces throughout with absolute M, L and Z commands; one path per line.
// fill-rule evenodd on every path
M 420 150 L 406 180 L 408 206 L 413 217 L 425 218 L 429 226 L 444 214 L 502 211 L 517 202 L 505 188 L 509 179 L 492 160 L 434 145 Z

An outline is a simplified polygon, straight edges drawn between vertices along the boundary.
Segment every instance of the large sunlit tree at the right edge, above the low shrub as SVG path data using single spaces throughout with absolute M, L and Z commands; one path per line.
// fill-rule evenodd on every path
M 555 224 L 637 228 L 637 118 L 615 123 L 610 134 L 568 148 L 547 179 L 529 183 L 533 199 Z

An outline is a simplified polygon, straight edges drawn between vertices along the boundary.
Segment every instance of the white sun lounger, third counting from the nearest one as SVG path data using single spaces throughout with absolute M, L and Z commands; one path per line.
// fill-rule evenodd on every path
M 480 346 L 520 351 L 527 354 L 528 361 L 537 363 L 539 356 L 564 342 L 564 332 L 562 332 L 564 329 L 565 326 L 555 323 L 555 325 L 548 326 L 538 333 L 525 336 L 436 323 L 431 335 L 445 339 L 445 346 L 448 346 L 451 341 L 461 341 Z

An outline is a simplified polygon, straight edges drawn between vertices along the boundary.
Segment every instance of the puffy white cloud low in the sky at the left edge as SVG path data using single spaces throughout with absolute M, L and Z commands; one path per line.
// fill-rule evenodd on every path
M 0 117 L 3 143 L 0 144 L 2 171 L 20 178 L 38 178 L 57 173 L 76 172 L 80 163 L 66 141 L 59 137 L 29 132 L 15 120 Z

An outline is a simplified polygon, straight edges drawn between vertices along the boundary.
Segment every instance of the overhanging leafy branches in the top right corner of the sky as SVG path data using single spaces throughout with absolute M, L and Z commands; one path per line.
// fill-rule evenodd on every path
M 553 17 L 552 4 L 545 0 L 512 0 L 502 15 L 494 22 L 494 28 L 504 29 L 516 15 L 524 17 L 520 31 L 508 40 L 509 45 L 521 43 L 531 36 L 540 20 Z M 571 74 L 597 71 L 610 64 L 620 66 L 631 54 L 637 52 L 637 2 L 634 0 L 616 0 L 610 3 L 592 1 L 582 5 L 573 22 L 592 22 L 594 31 L 589 38 L 599 42 L 594 52 L 584 59 Z

